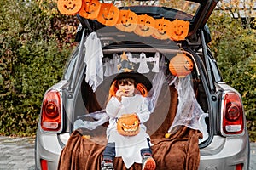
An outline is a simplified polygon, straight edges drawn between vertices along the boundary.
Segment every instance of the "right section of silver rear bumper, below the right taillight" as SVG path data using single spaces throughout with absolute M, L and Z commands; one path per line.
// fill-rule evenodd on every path
M 241 138 L 214 136 L 212 143 L 201 149 L 200 170 L 235 170 L 249 166 L 247 134 Z

